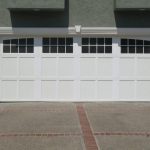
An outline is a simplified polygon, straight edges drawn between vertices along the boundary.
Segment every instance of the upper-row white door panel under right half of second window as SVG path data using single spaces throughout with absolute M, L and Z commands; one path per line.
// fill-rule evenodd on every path
M 74 59 L 73 58 L 59 58 L 58 59 L 58 75 L 74 76 Z

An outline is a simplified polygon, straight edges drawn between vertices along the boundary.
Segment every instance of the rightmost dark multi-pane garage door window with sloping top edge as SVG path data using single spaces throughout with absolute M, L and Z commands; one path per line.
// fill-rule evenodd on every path
M 150 53 L 150 41 L 138 39 L 121 39 L 121 53 Z

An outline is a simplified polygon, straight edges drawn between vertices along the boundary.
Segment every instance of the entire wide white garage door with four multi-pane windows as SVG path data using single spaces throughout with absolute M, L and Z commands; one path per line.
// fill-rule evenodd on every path
M 147 39 L 4 38 L 0 65 L 2 101 L 150 98 Z

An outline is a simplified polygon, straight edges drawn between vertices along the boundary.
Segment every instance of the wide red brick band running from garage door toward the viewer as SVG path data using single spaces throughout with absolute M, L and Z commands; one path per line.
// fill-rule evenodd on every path
M 81 104 L 77 104 L 76 108 L 80 120 L 86 150 L 98 150 L 98 146 L 96 144 L 96 140 L 94 138 L 84 107 Z

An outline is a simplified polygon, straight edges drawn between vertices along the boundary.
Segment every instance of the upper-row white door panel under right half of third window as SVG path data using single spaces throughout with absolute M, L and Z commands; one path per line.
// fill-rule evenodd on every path
M 112 76 L 112 58 L 98 58 L 98 76 L 111 77 Z

